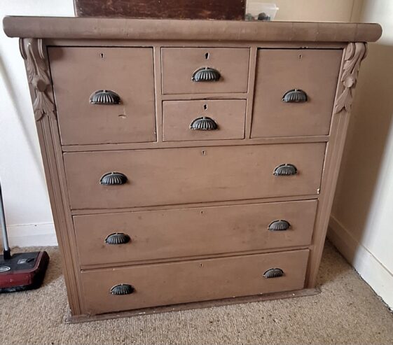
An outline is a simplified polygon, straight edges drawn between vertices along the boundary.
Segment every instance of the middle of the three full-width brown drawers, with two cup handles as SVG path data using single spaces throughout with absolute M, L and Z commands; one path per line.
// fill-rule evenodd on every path
M 81 265 L 107 265 L 307 246 L 316 211 L 316 200 L 212 206 L 74 216 L 74 227 Z

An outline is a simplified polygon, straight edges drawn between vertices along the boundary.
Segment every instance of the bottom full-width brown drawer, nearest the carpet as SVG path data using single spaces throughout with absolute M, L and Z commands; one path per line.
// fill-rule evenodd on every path
M 307 262 L 302 250 L 85 271 L 84 314 L 300 290 Z M 272 268 L 283 275 L 265 278 Z

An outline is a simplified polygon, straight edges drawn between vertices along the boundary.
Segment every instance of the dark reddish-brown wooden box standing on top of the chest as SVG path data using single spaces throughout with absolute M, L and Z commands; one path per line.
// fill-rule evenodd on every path
M 74 0 L 77 17 L 243 20 L 246 0 Z

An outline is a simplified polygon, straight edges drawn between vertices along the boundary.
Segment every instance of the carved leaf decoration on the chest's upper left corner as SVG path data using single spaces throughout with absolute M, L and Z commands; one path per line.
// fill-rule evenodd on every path
M 55 104 L 48 96 L 50 77 L 43 42 L 38 38 L 20 38 L 20 54 L 26 60 L 27 80 L 34 88 L 33 110 L 36 121 L 48 115 L 56 118 Z

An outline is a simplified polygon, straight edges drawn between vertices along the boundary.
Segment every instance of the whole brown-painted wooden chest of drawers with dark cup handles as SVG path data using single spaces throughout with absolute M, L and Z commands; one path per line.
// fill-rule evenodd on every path
M 24 37 L 73 320 L 315 293 L 378 24 L 4 28 Z

